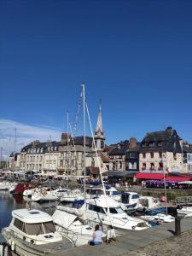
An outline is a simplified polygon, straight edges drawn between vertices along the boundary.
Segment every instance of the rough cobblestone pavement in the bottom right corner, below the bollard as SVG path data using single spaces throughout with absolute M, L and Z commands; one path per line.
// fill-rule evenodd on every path
M 184 232 L 181 236 L 173 236 L 162 241 L 155 241 L 137 251 L 126 253 L 128 256 L 191 256 L 192 230 Z

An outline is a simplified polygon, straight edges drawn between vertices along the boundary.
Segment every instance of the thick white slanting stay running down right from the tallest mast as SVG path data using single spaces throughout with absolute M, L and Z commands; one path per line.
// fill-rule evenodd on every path
M 91 122 L 90 122 L 90 112 L 89 112 L 89 109 L 88 109 L 88 106 L 87 106 L 87 102 L 85 102 L 85 106 L 86 106 L 87 115 L 88 115 L 88 119 L 89 119 L 89 123 L 90 123 L 91 135 L 93 137 L 93 144 L 94 144 L 94 148 L 96 150 L 96 161 L 97 161 L 97 165 L 99 166 L 99 174 L 100 174 L 101 181 L 102 181 L 102 188 L 103 188 L 103 192 L 104 192 L 104 196 L 105 196 L 106 205 L 107 205 L 107 208 L 108 208 L 107 215 L 109 217 L 110 224 L 112 224 L 111 215 L 110 215 L 110 211 L 109 211 L 109 207 L 108 207 L 106 190 L 105 190 L 105 186 L 104 186 L 103 179 L 102 179 L 101 161 L 99 161 L 99 158 L 98 158 L 98 153 L 97 153 L 97 149 L 96 149 L 96 141 L 95 141 L 95 138 L 94 138 L 94 135 L 93 135 L 93 129 L 92 129 L 92 125 L 91 125 Z

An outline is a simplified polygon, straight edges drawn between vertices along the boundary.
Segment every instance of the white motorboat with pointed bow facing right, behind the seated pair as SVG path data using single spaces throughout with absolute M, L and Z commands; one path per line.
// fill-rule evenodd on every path
M 103 230 L 107 230 L 108 225 L 113 225 L 117 235 L 125 234 L 126 230 L 145 230 L 148 228 L 148 223 L 128 216 L 120 204 L 108 195 L 86 200 L 85 214 L 90 226 L 102 224 Z

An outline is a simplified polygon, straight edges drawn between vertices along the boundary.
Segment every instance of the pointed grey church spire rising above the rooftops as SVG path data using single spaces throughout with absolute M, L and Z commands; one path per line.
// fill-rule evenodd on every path
M 104 148 L 105 137 L 104 137 L 104 132 L 102 130 L 102 101 L 101 100 L 100 100 L 98 118 L 96 123 L 96 131 L 95 131 L 94 137 L 96 140 L 96 148 L 98 150 L 101 150 L 102 148 Z

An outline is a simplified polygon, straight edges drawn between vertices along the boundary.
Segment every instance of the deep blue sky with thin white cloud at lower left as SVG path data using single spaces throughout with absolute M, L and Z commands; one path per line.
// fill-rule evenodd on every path
M 107 143 L 170 125 L 192 142 L 192 2 L 2 0 L 0 137 L 57 139 L 82 81 Z

